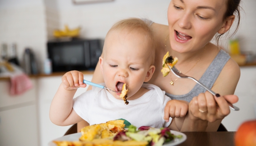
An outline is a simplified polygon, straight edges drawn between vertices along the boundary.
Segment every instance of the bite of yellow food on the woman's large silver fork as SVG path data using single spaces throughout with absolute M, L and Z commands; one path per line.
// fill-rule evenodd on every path
M 167 76 L 170 72 L 170 68 L 168 65 L 170 65 L 171 68 L 178 62 L 177 57 L 172 57 L 169 55 L 169 51 L 163 56 L 163 68 L 161 69 L 161 72 L 163 73 L 163 76 Z

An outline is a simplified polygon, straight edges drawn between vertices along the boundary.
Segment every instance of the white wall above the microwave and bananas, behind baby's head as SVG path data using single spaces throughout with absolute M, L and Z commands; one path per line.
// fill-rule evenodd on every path
M 72 0 L 57 0 L 60 27 L 82 27 L 84 38 L 105 38 L 109 28 L 118 20 L 129 17 L 148 18 L 167 24 L 170 0 L 114 0 L 106 3 L 75 5 Z

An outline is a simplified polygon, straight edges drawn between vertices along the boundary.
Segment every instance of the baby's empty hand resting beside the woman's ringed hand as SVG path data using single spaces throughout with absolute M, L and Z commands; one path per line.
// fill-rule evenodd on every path
M 188 112 L 188 101 L 185 100 L 170 100 L 165 106 L 165 119 L 169 122 L 169 118 L 180 118 L 186 116 Z

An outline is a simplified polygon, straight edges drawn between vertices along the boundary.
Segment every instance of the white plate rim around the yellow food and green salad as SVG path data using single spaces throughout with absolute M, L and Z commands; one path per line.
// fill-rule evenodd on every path
M 178 132 L 178 131 L 173 131 L 171 130 L 171 133 L 174 135 L 182 135 L 182 138 L 175 138 L 173 141 L 170 141 L 168 143 L 165 143 L 163 146 L 176 146 L 182 142 L 184 142 L 187 139 L 187 135 L 185 135 L 184 133 Z M 74 134 L 69 134 L 69 135 L 65 135 L 63 137 L 54 139 L 52 141 L 79 141 L 79 138 L 82 136 L 81 132 L 79 133 L 74 133 Z M 49 146 L 56 146 L 55 143 L 53 142 L 49 142 Z

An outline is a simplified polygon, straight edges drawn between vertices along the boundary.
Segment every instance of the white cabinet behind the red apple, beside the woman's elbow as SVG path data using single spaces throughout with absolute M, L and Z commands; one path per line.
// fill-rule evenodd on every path
M 246 120 L 256 119 L 256 67 L 241 67 L 241 76 L 235 95 L 239 101 L 234 104 L 240 111 L 232 111 L 222 120 L 228 131 L 237 131 Z

